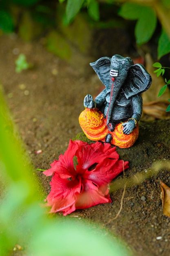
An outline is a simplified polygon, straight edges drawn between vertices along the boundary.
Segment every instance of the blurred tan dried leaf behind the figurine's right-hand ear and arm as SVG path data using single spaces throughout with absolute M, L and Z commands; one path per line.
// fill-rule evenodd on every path
M 166 90 L 160 98 L 157 97 L 159 90 L 165 85 L 165 81 L 162 76 L 157 77 L 154 73 L 155 68 L 152 67 L 154 62 L 150 54 L 146 54 L 145 61 L 146 69 L 152 76 L 152 84 L 149 90 L 142 94 L 144 102 L 143 113 L 158 119 L 170 118 L 170 113 L 166 112 L 166 108 L 169 105 L 170 91 Z

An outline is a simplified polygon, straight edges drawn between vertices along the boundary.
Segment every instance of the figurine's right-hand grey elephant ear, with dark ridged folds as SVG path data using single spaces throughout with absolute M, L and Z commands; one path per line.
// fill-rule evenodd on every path
M 152 78 L 143 65 L 131 66 L 123 88 L 126 98 L 145 92 L 151 83 Z

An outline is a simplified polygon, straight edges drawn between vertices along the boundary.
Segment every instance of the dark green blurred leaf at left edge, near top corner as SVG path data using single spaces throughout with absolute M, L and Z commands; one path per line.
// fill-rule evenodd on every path
M 0 28 L 5 33 L 10 33 L 13 31 L 14 22 L 11 14 L 7 11 L 0 10 Z

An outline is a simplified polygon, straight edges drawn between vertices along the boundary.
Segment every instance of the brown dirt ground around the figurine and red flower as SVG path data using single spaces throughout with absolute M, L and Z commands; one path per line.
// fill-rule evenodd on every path
M 34 68 L 16 74 L 16 52 L 24 53 Z M 15 35 L 0 38 L 0 78 L 33 165 L 49 168 L 49 164 L 64 153 L 69 139 L 81 132 L 78 116 L 84 109 L 84 96 L 97 94 L 101 83 L 88 63 L 82 72 L 48 53 L 41 41 L 24 43 Z M 36 154 L 37 150 L 42 153 Z M 118 149 L 118 153 L 130 161 L 127 177 L 145 172 L 156 160 L 170 159 L 170 120 L 141 121 L 136 144 Z M 38 171 L 37 175 L 47 194 L 49 178 Z M 118 179 L 121 180 L 122 175 Z M 159 180 L 170 186 L 168 171 L 163 170 L 139 186 L 126 189 L 123 209 L 116 220 L 112 219 L 119 211 L 123 188 L 111 194 L 113 203 L 79 210 L 73 215 L 114 231 L 132 248 L 135 256 L 169 256 L 170 218 L 162 213 Z

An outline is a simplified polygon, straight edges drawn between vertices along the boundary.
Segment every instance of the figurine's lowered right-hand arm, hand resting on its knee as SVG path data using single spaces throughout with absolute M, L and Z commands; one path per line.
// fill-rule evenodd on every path
M 124 126 L 123 132 L 124 134 L 130 134 L 133 129 L 136 127 L 137 122 L 141 118 L 142 114 L 142 97 L 141 95 L 136 95 L 132 98 L 132 117 L 128 119 L 128 121 L 122 126 Z

